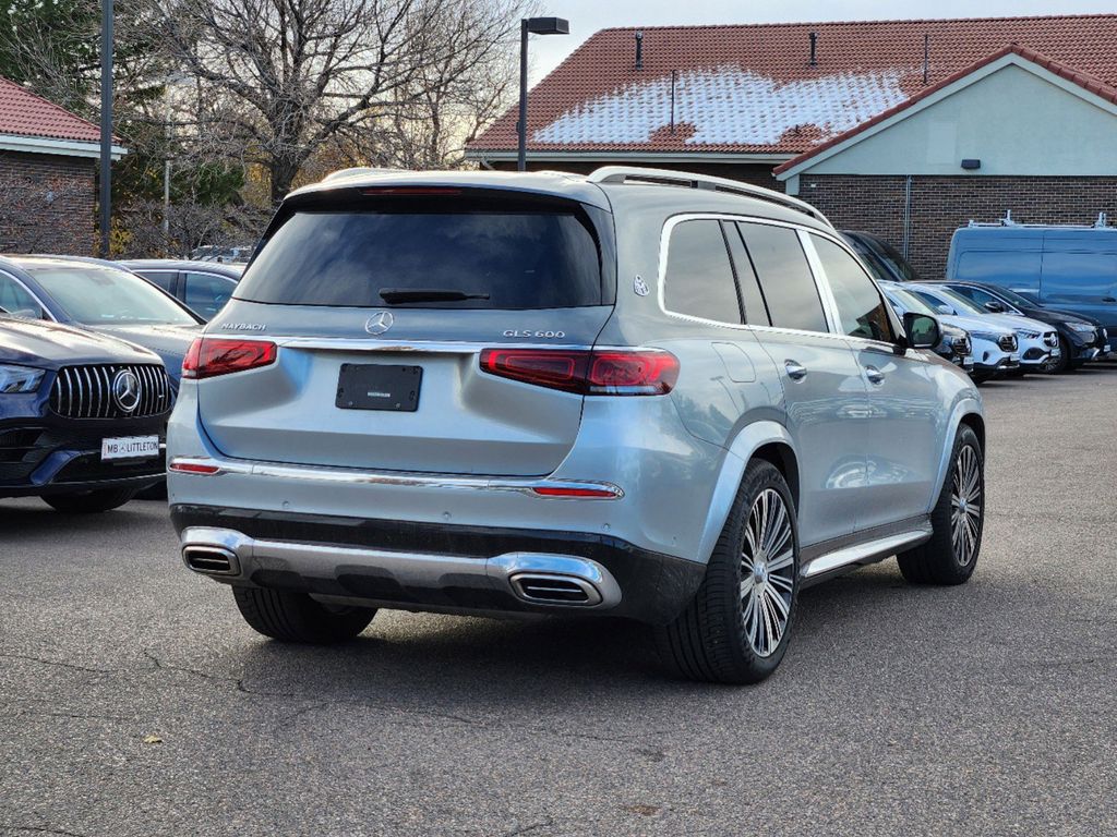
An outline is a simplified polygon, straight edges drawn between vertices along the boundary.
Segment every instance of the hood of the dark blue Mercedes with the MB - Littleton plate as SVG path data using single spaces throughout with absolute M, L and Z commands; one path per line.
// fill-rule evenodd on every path
M 41 319 L 0 315 L 0 363 L 57 369 L 73 364 L 151 364 L 159 357 L 140 346 Z

